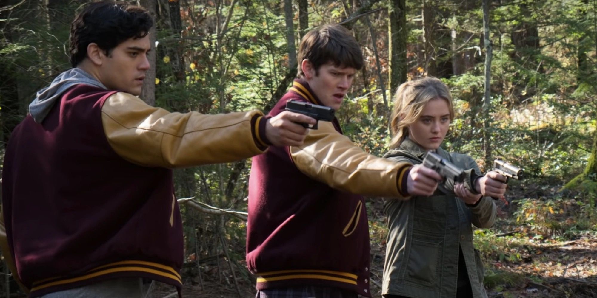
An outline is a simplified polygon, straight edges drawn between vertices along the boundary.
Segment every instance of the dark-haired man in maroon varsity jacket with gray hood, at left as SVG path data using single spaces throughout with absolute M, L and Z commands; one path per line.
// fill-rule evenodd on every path
M 181 288 L 172 167 L 300 145 L 315 123 L 259 111 L 169 113 L 135 95 L 152 18 L 94 2 L 70 32 L 73 69 L 38 92 L 4 159 L 2 254 L 31 297 L 141 297 L 141 278 Z M 4 231 L 3 231 L 4 232 Z M 2 233 L 4 234 L 4 233 Z

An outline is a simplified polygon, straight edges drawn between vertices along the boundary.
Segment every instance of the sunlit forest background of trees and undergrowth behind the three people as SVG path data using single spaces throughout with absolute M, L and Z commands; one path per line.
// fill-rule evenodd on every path
M 70 21 L 85 2 L 0 1 L 0 157 L 35 92 L 69 68 Z M 337 116 L 381 156 L 396 87 L 440 77 L 457 111 L 444 147 L 484 172 L 501 158 L 527 173 L 509 182 L 496 226 L 475 230 L 490 297 L 597 296 L 597 0 L 129 2 L 156 18 L 141 98 L 170 111 L 269 110 L 296 76 L 301 36 L 340 23 L 366 62 Z M 175 170 L 190 297 L 254 296 L 244 263 L 250 167 Z M 380 297 L 387 227 L 380 200 L 367 207 Z M 146 286 L 148 297 L 172 291 Z M 22 295 L 8 274 L 4 294 Z

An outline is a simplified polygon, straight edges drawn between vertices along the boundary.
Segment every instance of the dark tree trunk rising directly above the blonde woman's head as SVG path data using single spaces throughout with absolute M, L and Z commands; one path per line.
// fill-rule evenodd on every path
M 425 60 L 423 69 L 429 76 L 437 76 L 435 24 L 435 7 L 433 7 L 430 0 L 425 0 L 423 1 L 423 42 Z

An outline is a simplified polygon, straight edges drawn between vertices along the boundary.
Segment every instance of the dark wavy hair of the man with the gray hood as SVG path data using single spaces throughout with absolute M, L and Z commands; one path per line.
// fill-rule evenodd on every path
M 92 2 L 70 24 L 70 64 L 76 67 L 87 57 L 87 46 L 96 43 L 106 55 L 129 38 L 144 38 L 153 26 L 143 7 L 125 2 Z

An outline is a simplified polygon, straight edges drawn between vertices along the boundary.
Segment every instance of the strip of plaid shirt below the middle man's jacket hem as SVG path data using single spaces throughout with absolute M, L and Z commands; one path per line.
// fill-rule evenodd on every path
M 301 285 L 298 287 L 275 288 L 257 291 L 255 298 L 358 298 L 353 291 L 332 287 L 314 287 Z

